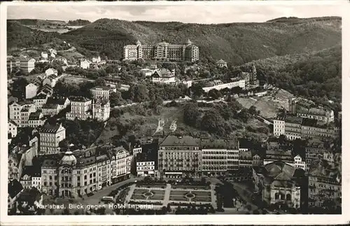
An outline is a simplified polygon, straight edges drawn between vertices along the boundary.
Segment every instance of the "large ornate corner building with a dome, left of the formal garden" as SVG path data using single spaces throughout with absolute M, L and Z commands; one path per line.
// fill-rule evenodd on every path
M 63 157 L 52 155 L 43 160 L 43 192 L 60 197 L 76 197 L 109 186 L 113 179 L 124 180 L 129 176 L 131 158 L 125 149 L 112 148 L 106 154 L 98 148 L 67 150 Z

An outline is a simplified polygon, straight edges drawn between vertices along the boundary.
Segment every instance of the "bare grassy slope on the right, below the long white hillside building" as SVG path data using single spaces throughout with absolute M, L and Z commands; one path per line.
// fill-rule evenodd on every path
M 244 108 L 255 106 L 264 118 L 274 118 L 280 107 L 288 109 L 288 98 L 290 97 L 293 97 L 293 94 L 286 90 L 278 90 L 276 93 L 265 97 L 239 97 L 237 101 Z

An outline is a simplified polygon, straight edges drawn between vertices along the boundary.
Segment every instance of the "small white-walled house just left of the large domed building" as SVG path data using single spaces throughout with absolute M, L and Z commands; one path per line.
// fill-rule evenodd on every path
M 20 179 L 23 188 L 36 188 L 41 190 L 41 168 L 38 166 L 28 166 L 23 170 Z

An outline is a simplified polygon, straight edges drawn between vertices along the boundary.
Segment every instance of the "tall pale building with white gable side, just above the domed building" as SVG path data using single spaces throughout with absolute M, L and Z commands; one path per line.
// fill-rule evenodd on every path
M 66 129 L 61 125 L 43 125 L 38 127 L 39 155 L 59 153 L 59 142 L 66 139 Z

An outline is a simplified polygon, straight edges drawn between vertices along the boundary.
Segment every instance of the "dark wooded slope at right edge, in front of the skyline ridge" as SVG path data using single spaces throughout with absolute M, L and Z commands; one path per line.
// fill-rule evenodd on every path
M 289 92 L 341 109 L 342 46 L 335 45 L 311 54 L 302 53 L 253 61 L 260 80 Z M 246 70 L 251 63 L 239 66 Z M 334 101 L 330 104 L 328 100 Z

